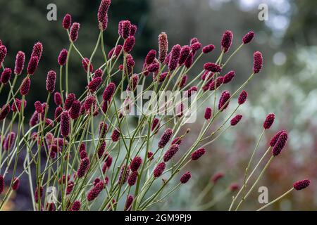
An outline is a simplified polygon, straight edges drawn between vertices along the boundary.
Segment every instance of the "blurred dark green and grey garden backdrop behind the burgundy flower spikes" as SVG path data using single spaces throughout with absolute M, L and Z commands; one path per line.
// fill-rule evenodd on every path
M 0 39 L 8 49 L 6 67 L 13 68 L 17 51 L 25 51 L 29 56 L 32 46 L 42 41 L 44 53 L 41 64 L 32 78 L 32 91 L 28 96 L 30 105 L 36 100 L 45 101 L 44 81 L 48 70 L 58 70 L 56 58 L 59 51 L 68 48 L 68 37 L 61 28 L 65 13 L 73 16 L 73 21 L 81 24 L 77 46 L 84 56 L 89 56 L 97 35 L 97 8 L 99 0 L 0 0 Z M 57 21 L 46 19 L 46 6 L 57 6 Z M 258 18 L 260 4 L 268 6 L 268 20 Z M 196 210 L 192 204 L 201 190 L 209 183 L 215 172 L 225 173 L 203 203 L 215 198 L 217 193 L 232 182 L 242 184 L 244 168 L 262 131 L 262 123 L 268 113 L 275 113 L 275 124 L 266 132 L 260 143 L 259 159 L 266 150 L 268 140 L 279 129 L 289 131 L 287 148 L 273 160 L 259 186 L 268 188 L 268 198 L 273 200 L 292 187 L 294 181 L 311 179 L 311 186 L 304 191 L 293 191 L 286 198 L 275 203 L 271 210 L 317 210 L 317 1 L 314 0 L 113 0 L 108 14 L 109 23 L 105 34 L 106 50 L 112 48 L 118 37 L 118 22 L 131 20 L 138 27 L 137 44 L 133 57 L 140 69 L 144 56 L 150 49 L 157 49 L 157 36 L 168 34 L 170 46 L 188 44 L 197 37 L 203 45 L 215 44 L 216 49 L 205 56 L 195 70 L 194 77 L 203 63 L 213 61 L 220 53 L 220 38 L 225 30 L 232 30 L 232 49 L 240 45 L 242 36 L 249 30 L 256 38 L 233 58 L 226 71 L 235 70 L 236 77 L 228 89 L 234 90 L 249 77 L 254 51 L 261 51 L 264 58 L 263 71 L 256 75 L 246 90 L 249 92 L 247 104 L 240 113 L 242 122 L 230 129 L 212 146 L 209 154 L 187 168 L 193 174 L 192 180 L 182 186 L 165 203 L 154 207 L 156 210 Z M 74 52 L 73 52 L 74 53 Z M 74 53 L 75 54 L 75 53 Z M 97 53 L 94 65 L 101 63 L 101 51 Z M 100 61 L 99 61 L 100 60 Z M 80 58 L 70 60 L 70 89 L 85 89 L 85 72 Z M 79 93 L 79 92 L 78 92 Z M 0 96 L 0 101 L 5 101 Z M 30 116 L 33 108 L 27 107 Z M 202 112 L 201 112 L 202 113 Z M 194 132 L 199 131 L 204 120 L 189 124 L 192 136 L 188 136 L 182 148 L 192 143 Z M 28 210 L 29 191 L 19 189 L 8 204 L 11 210 Z M 209 210 L 228 210 L 234 193 L 226 195 Z M 255 210 L 258 202 L 257 188 L 242 210 Z

